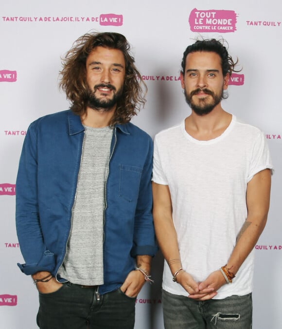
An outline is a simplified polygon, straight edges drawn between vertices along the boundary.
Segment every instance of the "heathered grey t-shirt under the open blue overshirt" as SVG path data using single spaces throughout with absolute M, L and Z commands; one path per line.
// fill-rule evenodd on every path
M 72 283 L 102 285 L 105 183 L 113 130 L 85 126 L 67 252 L 58 273 Z

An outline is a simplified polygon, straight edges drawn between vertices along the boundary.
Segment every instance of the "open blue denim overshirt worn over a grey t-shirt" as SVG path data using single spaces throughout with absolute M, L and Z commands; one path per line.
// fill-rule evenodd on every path
M 26 134 L 16 183 L 16 226 L 25 274 L 57 271 L 71 230 L 84 127 L 71 110 L 43 116 Z M 116 125 L 111 142 L 104 218 L 104 285 L 115 290 L 136 255 L 157 250 L 152 219 L 152 139 L 132 123 Z

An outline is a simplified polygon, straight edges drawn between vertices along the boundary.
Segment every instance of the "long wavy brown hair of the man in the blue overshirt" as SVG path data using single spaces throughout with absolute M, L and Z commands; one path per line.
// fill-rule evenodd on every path
M 62 58 L 63 69 L 60 71 L 59 87 L 71 101 L 71 110 L 80 116 L 85 114 L 88 103 L 86 59 L 98 46 L 123 52 L 125 60 L 123 95 L 117 103 L 110 125 L 129 122 L 144 106 L 147 86 L 134 64 L 135 60 L 130 54 L 130 44 L 122 34 L 92 32 L 77 39 Z

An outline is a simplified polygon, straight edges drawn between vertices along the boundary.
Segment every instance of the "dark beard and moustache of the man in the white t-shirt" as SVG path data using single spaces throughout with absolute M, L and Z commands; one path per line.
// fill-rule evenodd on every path
M 192 97 L 201 91 L 203 91 L 205 94 L 211 95 L 212 101 L 209 102 L 206 99 L 207 97 L 205 97 L 202 99 L 201 98 L 198 99 L 199 103 L 195 104 Z M 221 94 L 218 95 L 218 94 L 213 93 L 209 89 L 201 89 L 201 88 L 193 90 L 189 95 L 186 93 L 186 90 L 184 89 L 184 95 L 185 95 L 187 104 L 192 108 L 192 110 L 198 116 L 205 116 L 205 115 L 209 114 L 210 112 L 212 112 L 212 110 L 215 108 L 215 106 L 218 105 L 220 103 L 221 99 L 224 98 L 223 90 L 222 90 Z

